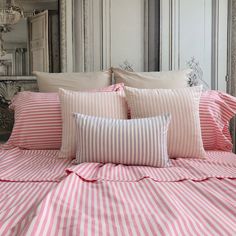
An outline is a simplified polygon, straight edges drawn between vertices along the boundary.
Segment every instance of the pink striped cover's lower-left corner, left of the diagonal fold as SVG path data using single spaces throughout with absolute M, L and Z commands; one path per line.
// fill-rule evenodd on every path
M 0 181 L 0 235 L 20 235 L 57 182 Z

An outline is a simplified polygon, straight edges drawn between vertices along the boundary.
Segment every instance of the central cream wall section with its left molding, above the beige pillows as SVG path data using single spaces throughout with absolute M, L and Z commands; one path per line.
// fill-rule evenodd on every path
M 143 71 L 145 2 L 74 0 L 74 70 L 104 70 L 128 61 Z

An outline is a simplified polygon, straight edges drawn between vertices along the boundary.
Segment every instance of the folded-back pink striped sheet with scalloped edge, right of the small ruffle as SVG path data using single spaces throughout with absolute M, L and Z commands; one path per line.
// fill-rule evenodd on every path
M 151 178 L 158 182 L 202 181 L 208 178 L 236 178 L 235 154 L 207 152 L 206 159 L 172 159 L 169 168 L 83 163 L 67 169 L 86 181 L 135 182 Z

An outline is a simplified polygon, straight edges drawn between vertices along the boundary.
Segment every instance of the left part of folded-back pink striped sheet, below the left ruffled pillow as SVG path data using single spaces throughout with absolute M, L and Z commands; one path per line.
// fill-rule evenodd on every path
M 70 161 L 58 155 L 59 150 L 2 150 L 0 181 L 60 182 Z

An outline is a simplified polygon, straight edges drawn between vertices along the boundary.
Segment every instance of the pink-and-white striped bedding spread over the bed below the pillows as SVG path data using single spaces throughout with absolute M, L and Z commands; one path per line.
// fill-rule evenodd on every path
M 233 153 L 176 159 L 166 169 L 72 165 L 56 155 L 1 155 L 0 235 L 236 234 Z

